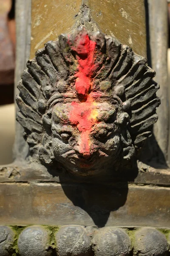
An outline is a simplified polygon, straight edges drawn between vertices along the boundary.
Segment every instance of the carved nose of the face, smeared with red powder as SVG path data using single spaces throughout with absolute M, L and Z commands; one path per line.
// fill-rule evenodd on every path
M 91 157 L 90 139 L 87 131 L 79 135 L 77 146 L 74 148 L 77 154 L 84 158 Z

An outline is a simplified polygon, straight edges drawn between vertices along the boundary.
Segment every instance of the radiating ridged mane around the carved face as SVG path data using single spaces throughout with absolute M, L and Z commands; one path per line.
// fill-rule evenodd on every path
M 104 83 L 102 90 L 108 93 L 110 101 L 119 102 L 118 112 L 130 116 L 128 130 L 136 150 L 151 136 L 153 124 L 158 119 L 156 107 L 160 100 L 156 91 L 159 85 L 153 81 L 155 72 L 146 65 L 145 58 L 100 32 L 88 33 L 79 29 L 73 35 L 60 35 L 57 41 L 49 41 L 36 52 L 35 58 L 27 62 L 27 70 L 23 71 L 18 83 L 20 94 L 16 98 L 20 108 L 17 121 L 25 130 L 24 138 L 30 152 L 44 163 L 55 161 L 51 149 L 52 107 L 57 102 L 77 97 L 73 89 L 77 72 L 74 45 L 82 34 L 96 42 L 91 79 L 96 84 Z M 111 93 L 104 81 L 111 84 Z

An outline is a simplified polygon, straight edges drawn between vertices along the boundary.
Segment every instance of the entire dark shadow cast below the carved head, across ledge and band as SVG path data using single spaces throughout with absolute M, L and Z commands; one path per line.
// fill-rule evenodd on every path
M 58 170 L 56 174 L 56 170 L 48 168 L 53 177 L 59 176 L 65 195 L 77 207 L 79 215 L 84 210 L 98 227 L 105 227 L 110 213 L 125 205 L 128 182 L 133 182 L 138 175 L 136 163 L 131 169 L 127 166 L 127 169 L 116 173 L 108 171 L 101 176 L 76 177 L 66 171 L 62 164 L 59 164 Z M 82 210 L 79 211 L 79 208 Z

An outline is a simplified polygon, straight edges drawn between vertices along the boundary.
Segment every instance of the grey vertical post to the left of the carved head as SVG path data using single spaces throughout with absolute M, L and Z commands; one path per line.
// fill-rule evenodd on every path
M 26 68 L 26 62 L 29 59 L 30 41 L 31 41 L 31 2 L 32 0 L 15 1 L 15 21 L 16 21 L 16 61 L 15 61 L 15 88 L 14 95 L 19 93 L 17 83 L 20 80 L 21 72 Z M 22 57 L 21 57 L 22 56 Z M 16 111 L 18 107 L 16 104 Z M 13 148 L 14 159 L 23 161 L 29 152 L 29 147 L 24 140 L 23 127 L 16 122 L 15 143 Z

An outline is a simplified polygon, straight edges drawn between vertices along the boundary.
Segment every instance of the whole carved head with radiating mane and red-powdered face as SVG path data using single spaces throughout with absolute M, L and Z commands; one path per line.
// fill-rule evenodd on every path
M 77 175 L 132 168 L 160 104 L 146 62 L 115 38 L 84 28 L 45 44 L 18 83 L 17 121 L 30 156 Z

